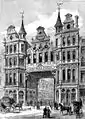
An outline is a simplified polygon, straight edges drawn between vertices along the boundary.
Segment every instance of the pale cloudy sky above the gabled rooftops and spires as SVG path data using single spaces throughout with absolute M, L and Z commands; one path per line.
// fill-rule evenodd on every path
M 57 2 L 63 1 L 61 6 L 61 19 L 67 13 L 73 18 L 79 15 L 80 34 L 85 33 L 85 0 L 0 0 L 0 39 L 6 33 L 9 25 L 13 24 L 17 32 L 21 25 L 21 11 L 24 11 L 24 24 L 29 36 L 35 36 L 36 28 L 45 27 L 48 34 L 55 31 L 57 20 Z M 1 42 L 2 40 L 0 40 Z

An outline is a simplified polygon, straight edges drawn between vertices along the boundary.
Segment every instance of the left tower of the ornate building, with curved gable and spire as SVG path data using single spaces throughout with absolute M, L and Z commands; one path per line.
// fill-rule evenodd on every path
M 5 94 L 13 94 L 13 98 L 19 102 L 25 102 L 25 70 L 26 70 L 26 31 L 23 17 L 19 33 L 10 25 L 7 29 L 5 46 Z

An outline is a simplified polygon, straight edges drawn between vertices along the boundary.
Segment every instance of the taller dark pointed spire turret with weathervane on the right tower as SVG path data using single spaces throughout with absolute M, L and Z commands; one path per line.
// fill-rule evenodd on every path
M 57 21 L 56 21 L 56 24 L 55 24 L 55 28 L 56 28 L 56 33 L 57 32 L 60 32 L 63 28 L 63 25 L 62 25 L 62 22 L 61 22 L 61 17 L 60 17 L 60 5 L 62 3 L 57 3 L 58 5 L 58 17 L 57 17 Z

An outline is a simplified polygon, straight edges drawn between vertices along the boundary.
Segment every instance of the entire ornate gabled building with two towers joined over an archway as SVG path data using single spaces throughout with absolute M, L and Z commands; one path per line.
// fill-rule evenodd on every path
M 62 23 L 60 10 L 53 42 L 45 28 L 39 26 L 29 45 L 23 19 L 19 33 L 14 26 L 8 27 L 4 41 L 5 92 L 12 92 L 17 102 L 37 102 L 40 79 L 50 77 L 54 79 L 54 102 L 70 103 L 78 100 L 84 92 L 83 42 L 79 36 L 78 16 L 75 16 L 74 21 L 72 14 L 68 13 Z

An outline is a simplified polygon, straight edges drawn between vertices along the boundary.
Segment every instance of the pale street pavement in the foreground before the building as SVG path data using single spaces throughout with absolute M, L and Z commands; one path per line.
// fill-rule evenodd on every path
M 75 119 L 75 115 L 72 115 L 72 116 L 63 115 L 63 116 L 61 116 L 60 112 L 57 110 L 54 110 L 54 109 L 51 110 L 51 112 L 52 112 L 52 115 L 57 115 L 57 117 L 59 117 L 59 118 L 55 118 L 55 119 Z M 85 113 L 85 106 L 83 107 L 83 112 Z M 41 115 L 43 115 L 43 108 L 37 110 L 36 108 L 33 108 L 33 107 L 24 106 L 23 110 L 21 110 L 20 112 L 19 112 L 19 110 L 16 110 L 14 112 L 9 112 L 9 113 L 1 112 L 0 113 L 0 119 L 12 119 L 15 117 L 23 117 L 23 116 L 27 116 L 29 118 L 32 116 L 41 116 Z M 85 119 L 85 117 L 83 119 Z

